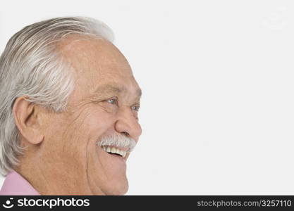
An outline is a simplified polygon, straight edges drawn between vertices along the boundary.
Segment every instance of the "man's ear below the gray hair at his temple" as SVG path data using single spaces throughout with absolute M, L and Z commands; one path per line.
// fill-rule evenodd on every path
M 40 127 L 37 105 L 25 100 L 25 96 L 16 98 L 13 104 L 13 116 L 20 134 L 26 141 L 38 144 L 43 141 L 44 134 Z

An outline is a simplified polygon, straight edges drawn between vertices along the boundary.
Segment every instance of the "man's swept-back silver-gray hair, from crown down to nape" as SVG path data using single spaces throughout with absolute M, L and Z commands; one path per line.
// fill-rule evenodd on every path
M 11 37 L 0 57 L 0 173 L 18 165 L 22 154 L 13 103 L 27 101 L 60 113 L 73 91 L 73 73 L 56 46 L 70 34 L 108 41 L 114 34 L 104 23 L 85 17 L 52 18 L 24 27 Z

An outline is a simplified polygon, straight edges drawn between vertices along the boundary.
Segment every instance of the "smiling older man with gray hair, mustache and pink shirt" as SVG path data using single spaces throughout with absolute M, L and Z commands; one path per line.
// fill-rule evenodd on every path
M 141 90 L 109 27 L 54 18 L 0 58 L 1 195 L 123 195 Z

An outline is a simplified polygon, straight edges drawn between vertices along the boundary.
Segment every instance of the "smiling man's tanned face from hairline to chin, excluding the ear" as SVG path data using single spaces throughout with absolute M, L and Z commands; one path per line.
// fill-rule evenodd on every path
M 68 38 L 59 47 L 75 73 L 75 89 L 66 112 L 44 118 L 47 129 L 39 151 L 44 165 L 39 170 L 64 187 L 52 190 L 48 183 L 47 189 L 52 194 L 124 194 L 130 146 L 116 151 L 99 141 L 113 136 L 138 141 L 140 88 L 127 60 L 110 42 Z

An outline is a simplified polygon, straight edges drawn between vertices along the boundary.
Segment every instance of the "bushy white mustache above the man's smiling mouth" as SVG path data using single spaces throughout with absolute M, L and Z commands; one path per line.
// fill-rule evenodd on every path
M 136 141 L 121 134 L 110 134 L 102 136 L 97 141 L 98 146 L 115 146 L 118 148 L 128 148 L 128 153 L 133 151 L 136 146 Z

